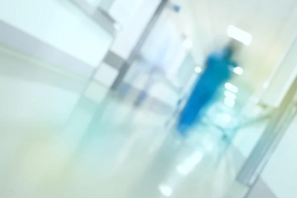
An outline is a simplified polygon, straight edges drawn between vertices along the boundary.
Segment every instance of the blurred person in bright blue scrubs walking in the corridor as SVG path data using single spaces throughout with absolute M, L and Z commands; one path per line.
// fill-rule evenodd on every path
M 205 69 L 195 83 L 177 121 L 176 129 L 182 135 L 186 135 L 195 122 L 199 121 L 218 89 L 232 77 L 232 70 L 237 66 L 232 55 L 237 46 L 236 41 L 231 41 L 225 48 L 207 57 Z

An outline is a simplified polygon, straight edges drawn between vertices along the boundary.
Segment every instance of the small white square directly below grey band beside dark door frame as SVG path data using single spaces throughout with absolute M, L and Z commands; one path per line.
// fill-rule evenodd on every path
M 109 88 L 113 84 L 118 73 L 119 71 L 117 69 L 103 62 L 95 74 L 95 79 Z

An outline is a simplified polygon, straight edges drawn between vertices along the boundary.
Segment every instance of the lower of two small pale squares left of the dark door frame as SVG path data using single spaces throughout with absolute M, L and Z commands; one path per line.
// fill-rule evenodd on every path
M 106 94 L 108 93 L 109 89 L 96 83 L 91 82 L 86 91 L 85 91 L 85 97 L 88 99 L 92 99 L 96 102 L 101 102 L 105 98 Z

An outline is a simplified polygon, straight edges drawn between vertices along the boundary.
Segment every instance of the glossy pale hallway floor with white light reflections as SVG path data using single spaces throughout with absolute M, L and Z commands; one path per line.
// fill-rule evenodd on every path
M 14 66 L 29 64 L 1 56 Z M 168 111 L 136 109 L 129 99 L 95 102 L 7 74 L 0 86 L 2 198 L 245 195 L 234 179 L 241 156 L 211 126 L 184 139 L 164 125 Z

